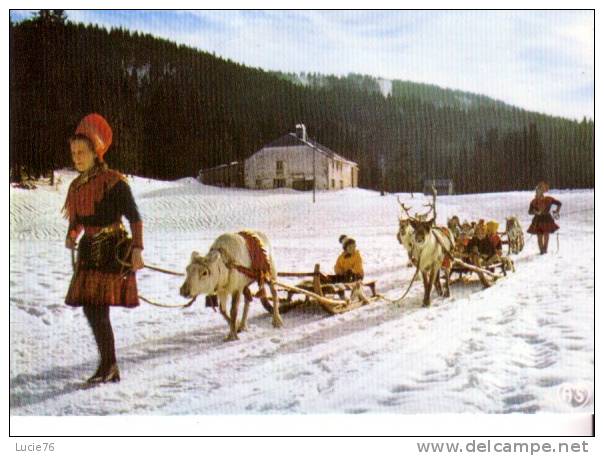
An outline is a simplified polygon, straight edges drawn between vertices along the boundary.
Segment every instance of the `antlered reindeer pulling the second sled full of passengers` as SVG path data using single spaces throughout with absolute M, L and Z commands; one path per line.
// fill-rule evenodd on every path
M 449 279 L 451 276 L 452 261 L 451 251 L 455 245 L 455 240 L 450 231 L 443 227 L 437 227 L 436 221 L 436 189 L 432 188 L 432 203 L 427 206 L 430 208 L 427 213 L 412 217 L 409 214 L 409 208 L 404 204 L 401 208 L 407 214 L 407 219 L 399 221 L 399 242 L 408 249 L 411 261 L 416 266 L 416 275 L 418 271 L 422 273 L 424 282 L 424 306 L 430 306 L 430 294 L 434 285 L 436 291 L 444 296 L 450 296 Z M 433 216 L 428 220 L 430 212 Z M 404 230 L 402 229 L 404 228 Z M 412 230 L 412 231 L 411 231 Z M 406 242 L 406 243 L 405 243 Z M 440 271 L 444 273 L 445 290 L 443 292 L 440 284 Z

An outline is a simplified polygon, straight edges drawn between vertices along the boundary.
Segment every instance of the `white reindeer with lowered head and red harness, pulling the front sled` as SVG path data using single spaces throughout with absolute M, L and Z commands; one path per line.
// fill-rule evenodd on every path
M 273 297 L 273 326 L 280 328 L 283 321 L 279 314 L 279 297 L 274 285 L 277 277 L 277 268 L 273 260 L 271 244 L 264 233 L 259 231 L 247 231 L 255 236 L 266 253 L 269 264 L 266 282 L 269 285 Z M 247 329 L 247 314 L 251 301 L 248 286 L 256 279 L 250 277 L 246 270 L 253 271 L 252 256 L 248 250 L 248 244 L 242 233 L 226 233 L 219 236 L 206 256 L 198 252 L 191 254 L 191 261 L 187 266 L 187 276 L 180 287 L 180 294 L 185 298 L 191 298 L 200 294 L 215 294 L 218 297 L 221 315 L 229 324 L 229 334 L 226 340 L 236 340 L 237 333 Z M 243 272 L 242 272 L 243 271 Z M 259 287 L 263 289 L 263 280 L 259 281 Z M 244 295 L 245 305 L 241 323 L 237 324 L 239 300 Z M 227 299 L 231 296 L 230 315 L 226 312 Z

